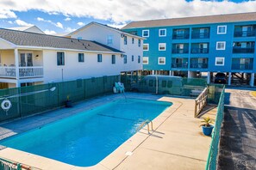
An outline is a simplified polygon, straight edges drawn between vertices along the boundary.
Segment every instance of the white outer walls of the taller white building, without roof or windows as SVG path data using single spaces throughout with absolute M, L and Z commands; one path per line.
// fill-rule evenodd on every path
M 113 36 L 113 44 L 108 44 L 108 36 Z M 138 46 L 138 38 L 134 37 L 134 44 L 132 44 L 132 36 L 127 36 L 127 45 L 124 45 L 124 37 L 122 33 L 112 30 L 109 27 L 103 27 L 96 24 L 91 24 L 88 27 L 84 27 L 77 33 L 72 34 L 72 38 L 78 39 L 88 39 L 95 40 L 103 45 L 116 48 L 124 52 L 127 55 L 127 64 L 122 62 L 122 71 L 133 71 L 142 70 L 142 45 L 143 40 L 141 39 L 140 46 Z M 132 56 L 134 55 L 134 61 L 132 61 Z M 140 56 L 140 63 L 138 63 L 138 56 Z

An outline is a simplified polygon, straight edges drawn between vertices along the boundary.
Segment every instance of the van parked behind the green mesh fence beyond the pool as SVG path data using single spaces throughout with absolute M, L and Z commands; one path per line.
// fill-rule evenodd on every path
M 148 75 L 140 80 L 140 82 L 132 83 L 132 91 L 158 94 L 174 94 L 183 93 L 183 79 L 180 76 L 155 76 Z

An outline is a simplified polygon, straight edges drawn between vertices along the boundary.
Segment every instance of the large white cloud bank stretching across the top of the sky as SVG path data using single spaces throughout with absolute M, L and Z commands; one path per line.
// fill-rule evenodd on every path
M 16 17 L 15 11 L 29 9 L 44 11 L 51 15 L 91 17 L 124 24 L 128 21 L 159 18 L 254 12 L 256 1 L 233 3 L 228 0 L 222 2 L 194 0 L 188 3 L 185 0 L 72 0 L 63 3 L 63 0 L 44 0 L 38 3 L 38 0 L 9 0 L 0 2 L 0 18 Z

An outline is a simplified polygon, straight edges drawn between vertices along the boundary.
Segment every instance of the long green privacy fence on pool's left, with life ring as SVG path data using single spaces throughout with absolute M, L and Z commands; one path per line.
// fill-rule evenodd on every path
M 64 106 L 67 96 L 72 102 L 76 102 L 109 94 L 112 92 L 114 82 L 118 81 L 119 76 L 103 76 L 2 89 L 0 90 L 0 104 L 7 103 L 6 100 L 9 100 L 11 107 L 8 111 L 0 107 L 0 122 Z

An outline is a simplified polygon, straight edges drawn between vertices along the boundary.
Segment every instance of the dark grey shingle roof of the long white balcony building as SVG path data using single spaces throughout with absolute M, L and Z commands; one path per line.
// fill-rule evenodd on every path
M 3 28 L 0 28 L 0 38 L 5 39 L 17 46 L 64 48 L 91 52 L 121 52 L 115 48 L 105 46 L 96 41 L 70 39 L 41 33 L 28 33 Z

